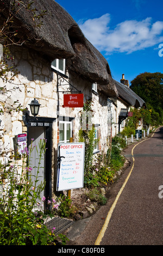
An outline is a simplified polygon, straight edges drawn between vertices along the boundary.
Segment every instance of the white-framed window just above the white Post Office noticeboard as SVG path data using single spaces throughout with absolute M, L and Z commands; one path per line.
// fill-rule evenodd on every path
M 59 142 L 67 143 L 70 142 L 72 137 L 72 123 L 69 121 L 59 122 Z

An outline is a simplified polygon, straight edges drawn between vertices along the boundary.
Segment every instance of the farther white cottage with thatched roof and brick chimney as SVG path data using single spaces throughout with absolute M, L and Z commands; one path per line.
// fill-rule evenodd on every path
M 110 98 L 112 101 L 112 137 L 123 130 L 130 107 L 146 107 L 145 101 L 129 88 L 129 82 L 124 79 L 124 74 L 122 75 L 121 82 L 114 80 L 114 83 L 118 96 Z M 142 125 L 142 120 L 140 120 L 139 127 L 137 128 L 142 129 Z

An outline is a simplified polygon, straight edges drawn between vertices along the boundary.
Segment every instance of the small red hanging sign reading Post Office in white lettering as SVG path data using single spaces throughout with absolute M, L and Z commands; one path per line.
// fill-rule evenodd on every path
M 80 94 L 64 94 L 64 107 L 83 107 L 84 95 Z

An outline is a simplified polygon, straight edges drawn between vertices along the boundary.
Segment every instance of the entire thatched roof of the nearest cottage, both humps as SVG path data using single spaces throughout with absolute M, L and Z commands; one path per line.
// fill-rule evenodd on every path
M 14 15 L 12 29 L 18 31 L 17 36 L 20 36 L 22 41 L 28 39 L 24 45 L 40 52 L 51 61 L 55 58 L 68 59 L 69 69 L 91 82 L 107 86 L 107 92 L 110 89 L 112 95 L 117 95 L 108 62 L 85 38 L 77 23 L 64 8 L 53 0 L 33 0 L 30 9 L 26 8 L 29 0 L 23 0 L 24 6 L 17 3 L 13 5 L 13 2 L 0 1 L 1 13 L 5 17 L 9 11 Z M 35 19 L 32 9 L 35 9 L 36 15 L 46 10 L 46 15 Z M 40 21 L 42 26 L 36 26 Z

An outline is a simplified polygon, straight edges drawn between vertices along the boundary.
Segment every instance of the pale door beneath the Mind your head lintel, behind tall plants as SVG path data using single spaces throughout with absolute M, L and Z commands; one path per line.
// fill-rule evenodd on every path
M 45 156 L 42 156 L 41 161 L 39 159 L 39 153 L 40 153 L 39 142 L 40 142 L 40 139 L 43 139 L 44 137 L 45 137 L 44 127 L 28 127 L 29 149 L 30 149 L 31 144 L 32 144 L 32 148 L 34 147 L 32 154 L 30 156 L 30 161 L 29 161 L 29 167 L 32 167 L 30 176 L 32 178 L 33 185 L 35 184 L 35 180 L 37 177 L 38 181 L 37 181 L 36 186 L 40 185 L 41 182 L 43 182 L 45 179 L 45 171 L 44 171 Z M 40 167 L 38 169 L 39 161 L 40 161 Z M 44 196 L 44 191 L 41 192 L 40 196 L 41 196 L 41 198 Z

